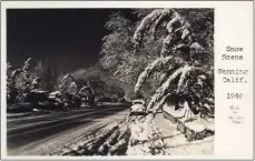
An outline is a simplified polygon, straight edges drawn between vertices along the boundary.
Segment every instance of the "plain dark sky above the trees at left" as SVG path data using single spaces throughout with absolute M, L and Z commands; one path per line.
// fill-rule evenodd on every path
M 7 62 L 48 59 L 58 72 L 88 68 L 99 60 L 104 28 L 112 9 L 8 9 Z M 122 10 L 130 14 L 130 10 Z

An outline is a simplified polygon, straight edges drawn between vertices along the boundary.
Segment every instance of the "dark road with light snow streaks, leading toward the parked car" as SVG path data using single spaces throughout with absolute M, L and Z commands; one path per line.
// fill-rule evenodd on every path
M 22 117 L 7 121 L 7 149 L 10 155 L 41 155 L 128 114 L 126 107 L 98 108 Z

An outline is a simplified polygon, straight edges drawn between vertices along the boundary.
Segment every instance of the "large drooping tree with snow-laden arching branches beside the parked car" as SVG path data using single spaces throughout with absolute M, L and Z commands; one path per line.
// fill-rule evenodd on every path
M 135 92 L 153 72 L 161 71 L 160 85 L 147 105 L 148 111 L 156 112 L 167 100 L 175 105 L 179 102 L 188 104 L 188 110 L 202 115 L 214 115 L 214 76 L 200 57 L 207 54 L 195 41 L 193 27 L 176 9 L 156 9 L 147 14 L 134 34 L 135 53 L 141 48 L 145 33 L 151 30 L 153 38 L 163 22 L 166 37 L 163 40 L 160 57 L 147 66 L 138 77 Z

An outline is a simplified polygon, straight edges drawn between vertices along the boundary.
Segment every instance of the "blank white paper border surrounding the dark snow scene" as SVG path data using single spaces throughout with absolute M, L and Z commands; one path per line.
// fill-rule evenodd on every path
M 224 38 L 224 31 L 227 27 L 233 24 L 233 21 L 227 22 L 228 24 L 223 27 L 222 20 L 229 18 L 229 14 L 235 14 L 237 18 L 246 18 L 246 20 L 242 20 L 243 23 L 245 23 L 245 30 L 252 36 L 253 34 L 253 22 L 252 22 L 252 11 L 253 11 L 253 2 L 252 1 L 3 1 L 1 2 L 1 154 L 2 159 L 26 159 L 26 160 L 48 160 L 48 159 L 57 159 L 57 160 L 94 160 L 94 159 L 106 159 L 106 160 L 166 160 L 166 159 L 175 159 L 175 160 L 214 160 L 214 159 L 253 159 L 253 134 L 238 134 L 233 133 L 234 135 L 225 135 L 226 130 L 225 128 L 229 128 L 228 124 L 222 123 L 220 120 L 225 120 L 223 113 L 227 111 L 219 111 L 217 110 L 217 107 L 219 107 L 220 103 L 223 103 L 222 99 L 218 98 L 220 95 L 220 92 L 224 91 L 224 89 L 218 88 L 219 80 L 217 78 L 217 74 L 215 73 L 215 154 L 214 155 L 136 155 L 136 157 L 53 157 L 53 155 L 26 155 L 26 157 L 10 157 L 7 155 L 7 119 L 6 119 L 6 60 L 7 60 L 7 32 L 6 32 L 6 10 L 7 9 L 42 9 L 42 8 L 67 8 L 67 9 L 78 9 L 78 8 L 214 8 L 215 9 L 215 69 L 223 63 L 219 60 L 219 56 L 216 53 L 223 52 L 222 44 L 225 44 L 224 41 L 228 41 L 227 43 L 238 44 L 238 41 L 229 40 Z M 225 10 L 225 13 L 224 13 Z M 239 14 L 235 13 L 235 10 L 239 10 Z M 245 13 L 244 13 L 245 12 Z M 235 17 L 235 18 L 236 18 Z M 222 20 L 220 20 L 222 19 Z M 248 22 L 251 21 L 251 23 Z M 247 27 L 246 27 L 247 24 Z M 238 27 L 229 28 L 229 30 L 233 30 L 233 32 L 238 32 Z M 225 31 L 227 32 L 227 31 Z M 223 36 L 222 36 L 223 34 Z M 234 33 L 233 33 L 234 34 Z M 238 34 L 239 36 L 239 34 Z M 248 60 L 245 62 L 247 66 L 247 69 L 253 71 L 253 52 L 252 52 L 252 37 L 241 37 L 242 39 L 245 38 L 245 48 L 248 49 L 247 57 Z M 247 38 L 247 39 L 246 39 Z M 224 40 L 223 40 L 224 39 Z M 251 56 L 249 56 L 251 54 Z M 243 66 L 243 64 L 242 64 Z M 252 80 L 249 85 L 253 85 L 253 76 L 249 76 L 248 79 Z M 220 85 L 219 85 L 220 87 Z M 227 89 L 229 90 L 229 89 Z M 219 94 L 218 94 L 219 92 Z M 246 91 L 245 91 L 246 92 Z M 248 95 L 251 99 L 245 100 L 245 105 L 251 108 L 251 111 L 248 110 L 246 113 L 246 120 L 247 123 L 242 127 L 242 131 L 244 133 L 253 133 L 251 129 L 253 129 L 253 92 L 248 92 Z M 223 113 L 222 113 L 223 112 Z M 229 129 L 228 129 L 229 130 Z M 235 129 L 231 131 L 238 132 Z M 236 142 L 223 142 L 226 140 L 234 140 L 237 139 Z M 242 141 L 238 141 L 238 139 L 244 139 Z M 223 144 L 228 144 L 224 145 Z M 242 148 L 235 148 L 235 145 L 241 145 Z M 243 147 L 246 145 L 246 147 Z M 222 148 L 220 148 L 222 147 Z M 226 147 L 228 150 L 226 150 Z M 233 149 L 233 150 L 232 150 Z M 242 150 L 242 152 L 241 152 Z M 227 153 L 228 152 L 228 153 Z M 238 153 L 241 152 L 241 153 Z

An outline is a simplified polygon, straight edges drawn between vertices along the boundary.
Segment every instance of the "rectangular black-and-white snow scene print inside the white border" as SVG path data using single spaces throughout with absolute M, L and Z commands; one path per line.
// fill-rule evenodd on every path
M 8 155 L 214 155 L 214 8 L 6 20 Z

